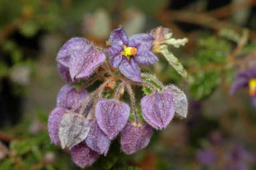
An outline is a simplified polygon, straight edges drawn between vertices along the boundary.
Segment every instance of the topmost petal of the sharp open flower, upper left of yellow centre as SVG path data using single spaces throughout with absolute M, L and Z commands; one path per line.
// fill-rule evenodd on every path
M 114 29 L 110 35 L 110 43 L 113 48 L 119 49 L 120 47 L 123 48 L 123 45 L 129 44 L 129 38 L 123 26 L 120 26 L 117 29 Z

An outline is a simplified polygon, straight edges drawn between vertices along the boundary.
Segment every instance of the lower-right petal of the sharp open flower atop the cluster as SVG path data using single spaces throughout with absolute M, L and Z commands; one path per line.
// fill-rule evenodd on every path
M 137 55 L 134 57 L 135 62 L 137 64 L 145 65 L 145 64 L 153 64 L 154 62 L 158 62 L 157 56 L 153 54 L 152 52 L 146 52 L 141 55 Z

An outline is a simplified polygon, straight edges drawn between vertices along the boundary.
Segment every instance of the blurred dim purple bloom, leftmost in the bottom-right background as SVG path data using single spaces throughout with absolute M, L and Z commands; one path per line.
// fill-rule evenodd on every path
M 211 165 L 217 161 L 216 153 L 212 149 L 198 151 L 197 159 L 202 165 Z

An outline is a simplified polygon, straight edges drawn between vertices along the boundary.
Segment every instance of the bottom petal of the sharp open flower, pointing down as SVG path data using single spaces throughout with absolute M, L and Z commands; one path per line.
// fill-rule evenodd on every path
M 135 82 L 142 82 L 141 70 L 139 69 L 138 64 L 132 58 L 129 61 L 127 61 L 126 59 L 122 60 L 119 66 L 119 70 L 127 78 Z

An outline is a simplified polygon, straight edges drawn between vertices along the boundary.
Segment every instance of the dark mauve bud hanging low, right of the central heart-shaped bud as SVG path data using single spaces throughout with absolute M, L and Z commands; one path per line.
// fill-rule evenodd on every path
M 149 144 L 153 135 L 153 129 L 148 124 L 127 122 L 125 129 L 121 131 L 121 149 L 131 155 Z

